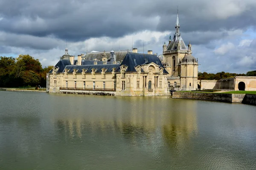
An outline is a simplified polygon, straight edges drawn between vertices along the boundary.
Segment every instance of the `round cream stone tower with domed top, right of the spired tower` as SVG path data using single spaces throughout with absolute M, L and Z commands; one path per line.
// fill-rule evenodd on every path
M 198 88 L 198 60 L 191 55 L 191 46 L 189 42 L 187 54 L 179 63 L 180 87 L 195 90 Z

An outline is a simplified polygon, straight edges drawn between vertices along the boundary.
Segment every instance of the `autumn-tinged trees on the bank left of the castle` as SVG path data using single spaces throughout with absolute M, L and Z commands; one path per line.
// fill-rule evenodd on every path
M 0 87 L 46 87 L 46 74 L 53 68 L 42 68 L 39 59 L 29 55 L 0 57 Z

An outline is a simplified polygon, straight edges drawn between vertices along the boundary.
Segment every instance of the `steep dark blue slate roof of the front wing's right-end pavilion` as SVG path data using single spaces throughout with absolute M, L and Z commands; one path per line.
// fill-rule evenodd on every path
M 125 55 L 125 58 L 123 59 L 122 63 L 120 65 L 127 65 L 127 72 L 137 72 L 134 68 L 137 65 L 143 65 L 143 64 L 149 64 L 151 62 L 154 62 L 157 65 L 160 65 L 160 67 L 163 68 L 163 73 L 168 74 L 166 69 L 163 67 L 162 62 L 156 55 L 151 54 L 140 54 L 140 53 L 127 53 Z

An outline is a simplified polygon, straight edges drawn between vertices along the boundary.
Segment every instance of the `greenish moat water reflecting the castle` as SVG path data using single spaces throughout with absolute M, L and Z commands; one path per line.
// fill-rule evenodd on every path
M 172 169 L 256 169 L 256 106 L 0 91 L 0 170 Z

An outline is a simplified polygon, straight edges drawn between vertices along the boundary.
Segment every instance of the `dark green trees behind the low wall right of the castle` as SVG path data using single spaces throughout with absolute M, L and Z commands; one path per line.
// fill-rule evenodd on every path
M 224 71 L 213 74 L 213 73 L 198 73 L 198 79 L 202 80 L 219 80 L 219 79 L 226 79 L 235 76 L 256 76 L 255 71 L 248 71 L 246 74 L 236 74 L 236 73 L 225 73 Z

